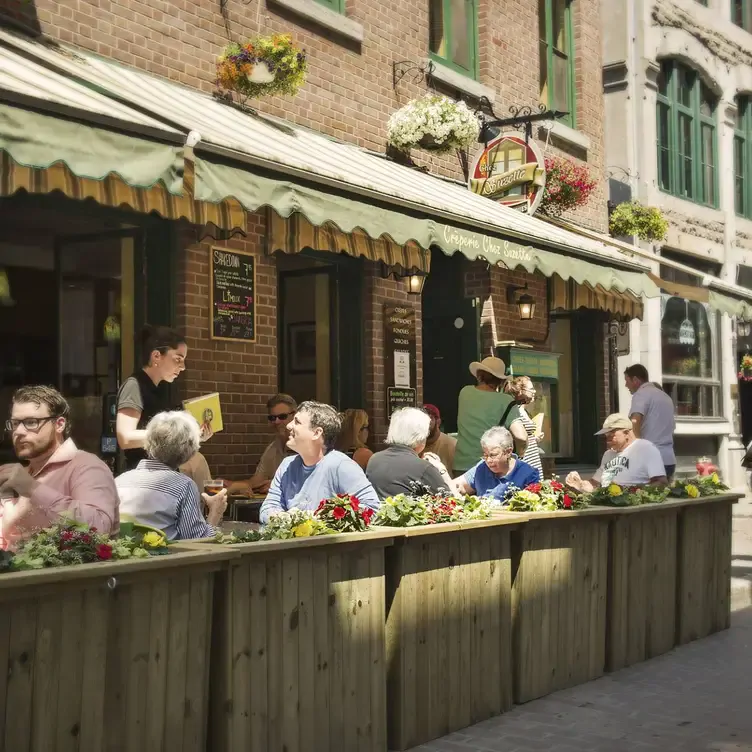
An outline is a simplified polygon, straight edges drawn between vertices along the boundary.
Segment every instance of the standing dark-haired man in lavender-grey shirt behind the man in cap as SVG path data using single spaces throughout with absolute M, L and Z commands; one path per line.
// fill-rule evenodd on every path
M 624 384 L 632 393 L 629 417 L 635 436 L 655 444 L 663 458 L 666 477 L 671 478 L 676 470 L 674 403 L 650 381 L 647 369 L 639 363 L 624 371 Z

